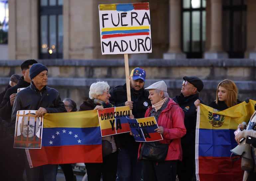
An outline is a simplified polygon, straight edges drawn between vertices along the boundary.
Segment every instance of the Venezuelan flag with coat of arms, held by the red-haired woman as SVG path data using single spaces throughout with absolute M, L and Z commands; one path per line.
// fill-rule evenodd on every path
M 241 159 L 231 161 L 230 149 L 237 146 L 234 131 L 254 113 L 256 101 L 242 102 L 219 111 L 200 104 L 196 122 L 196 178 L 199 181 L 240 181 Z

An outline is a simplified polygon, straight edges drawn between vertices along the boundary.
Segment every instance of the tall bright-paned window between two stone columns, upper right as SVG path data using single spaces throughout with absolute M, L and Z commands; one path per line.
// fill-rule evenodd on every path
M 206 0 L 182 1 L 182 50 L 187 58 L 201 58 L 205 49 Z

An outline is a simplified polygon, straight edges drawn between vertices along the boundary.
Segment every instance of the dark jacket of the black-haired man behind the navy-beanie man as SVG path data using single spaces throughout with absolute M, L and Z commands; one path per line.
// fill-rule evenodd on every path
M 17 90 L 19 88 L 23 88 L 23 87 L 28 87 L 30 85 L 30 82 L 26 82 L 24 80 L 24 76 L 20 77 L 18 84 L 10 87 L 9 89 L 7 89 L 3 101 L 0 105 L 0 117 L 7 121 L 7 122 L 11 122 L 11 115 L 12 115 L 12 106 L 11 106 L 11 102 L 10 102 L 10 95 L 12 95 L 13 93 L 17 93 Z

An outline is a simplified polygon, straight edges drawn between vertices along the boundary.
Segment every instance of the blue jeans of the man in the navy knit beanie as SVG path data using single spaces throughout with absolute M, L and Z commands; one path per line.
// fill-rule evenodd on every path
M 30 168 L 28 161 L 26 161 L 26 175 L 28 181 L 39 181 L 39 179 L 41 179 L 40 172 L 43 173 L 45 181 L 56 181 L 57 170 L 58 165 L 50 164 Z

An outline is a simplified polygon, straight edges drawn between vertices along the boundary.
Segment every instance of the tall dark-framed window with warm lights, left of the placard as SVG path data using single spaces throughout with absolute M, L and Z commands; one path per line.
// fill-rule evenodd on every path
M 39 58 L 63 57 L 63 0 L 40 0 Z

